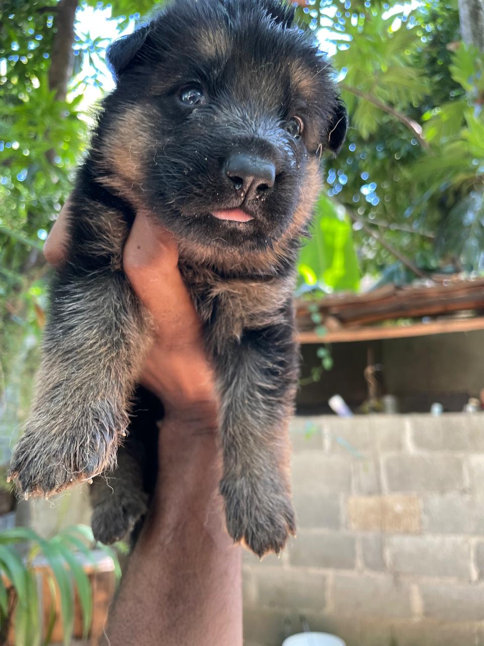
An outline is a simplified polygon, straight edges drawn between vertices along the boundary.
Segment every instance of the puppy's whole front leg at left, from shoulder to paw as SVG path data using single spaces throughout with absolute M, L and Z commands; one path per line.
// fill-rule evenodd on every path
M 122 271 L 121 211 L 74 194 L 70 247 L 52 286 L 43 360 L 10 476 L 48 495 L 116 464 L 148 316 Z

